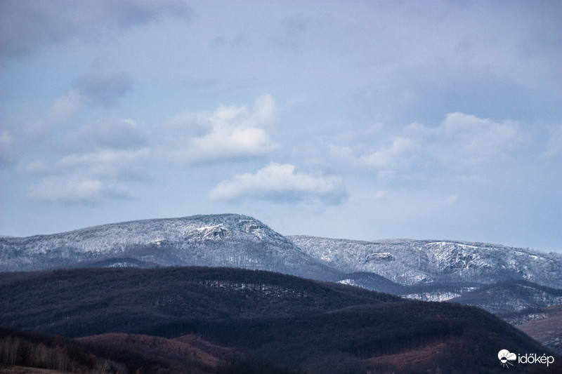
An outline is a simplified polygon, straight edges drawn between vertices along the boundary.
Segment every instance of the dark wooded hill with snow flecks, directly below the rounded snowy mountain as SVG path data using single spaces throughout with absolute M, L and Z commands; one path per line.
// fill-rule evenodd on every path
M 302 316 L 392 295 L 230 268 L 91 268 L 0 273 L 0 326 L 78 337 L 176 321 Z

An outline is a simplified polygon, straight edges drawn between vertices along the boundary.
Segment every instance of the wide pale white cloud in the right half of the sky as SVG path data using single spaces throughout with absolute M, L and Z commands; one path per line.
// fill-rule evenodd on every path
M 458 171 L 497 162 L 525 140 L 515 121 L 492 121 L 459 112 L 447 114 L 436 127 L 414 122 L 396 133 L 391 131 L 363 132 L 344 139 L 343 144 L 327 145 L 329 166 L 340 171 L 374 171 L 381 180 L 412 178 L 422 170 L 437 171 L 443 166 Z M 549 144 L 556 149 L 558 143 Z

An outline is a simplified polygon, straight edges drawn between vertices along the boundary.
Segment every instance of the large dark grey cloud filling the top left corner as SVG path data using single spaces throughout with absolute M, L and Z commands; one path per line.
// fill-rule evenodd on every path
M 18 58 L 75 36 L 95 41 L 112 30 L 166 17 L 191 20 L 192 10 L 181 0 L 3 0 L 0 50 Z

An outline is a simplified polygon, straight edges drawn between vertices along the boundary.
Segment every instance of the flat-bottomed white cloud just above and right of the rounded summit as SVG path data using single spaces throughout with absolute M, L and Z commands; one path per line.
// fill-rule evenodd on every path
M 211 199 L 320 199 L 325 203 L 340 204 L 347 198 L 344 183 L 340 178 L 299 173 L 295 169 L 295 166 L 287 163 L 270 163 L 256 174 L 235 175 L 230 180 L 218 183 L 211 191 Z

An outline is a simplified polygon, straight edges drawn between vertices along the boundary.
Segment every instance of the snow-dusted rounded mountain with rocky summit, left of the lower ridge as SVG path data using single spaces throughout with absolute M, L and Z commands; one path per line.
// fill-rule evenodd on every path
M 235 214 L 140 220 L 26 238 L 0 237 L 0 271 L 83 266 L 199 265 L 335 279 L 259 220 Z

